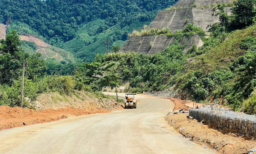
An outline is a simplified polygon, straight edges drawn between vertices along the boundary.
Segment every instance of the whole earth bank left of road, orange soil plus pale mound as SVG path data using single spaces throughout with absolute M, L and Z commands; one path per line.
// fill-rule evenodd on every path
M 29 98 L 26 98 L 26 101 L 29 102 Z M 122 103 L 106 98 L 99 99 L 88 92 L 81 91 L 71 96 L 59 93 L 41 94 L 37 101 L 31 102 L 30 105 L 38 111 L 0 106 L 0 130 L 123 109 Z

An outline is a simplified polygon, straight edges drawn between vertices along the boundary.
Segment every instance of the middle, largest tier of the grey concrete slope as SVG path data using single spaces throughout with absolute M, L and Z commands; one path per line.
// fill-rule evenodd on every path
M 231 14 L 231 7 L 225 7 L 225 12 Z M 173 33 L 182 30 L 189 23 L 194 22 L 194 26 L 200 26 L 204 31 L 208 31 L 213 23 L 219 22 L 219 16 L 212 14 L 210 7 L 193 7 L 178 10 L 160 11 L 148 28 L 168 27 Z M 215 14 L 218 11 L 215 11 Z M 186 22 L 185 19 L 188 18 Z

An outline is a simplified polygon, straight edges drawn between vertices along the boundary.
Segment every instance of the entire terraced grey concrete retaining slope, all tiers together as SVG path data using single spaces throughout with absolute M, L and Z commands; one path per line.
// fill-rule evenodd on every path
M 176 30 L 182 30 L 189 23 L 194 23 L 194 26 L 200 26 L 204 31 L 209 31 L 213 23 L 219 22 L 219 16 L 215 14 L 219 11 L 214 11 L 211 7 L 200 6 L 212 6 L 213 2 L 216 3 L 229 3 L 230 0 L 179 0 L 174 6 L 181 6 L 182 9 L 159 11 L 155 19 L 149 24 L 148 29 L 151 28 L 163 28 L 168 27 L 173 33 Z M 191 8 L 191 5 L 197 3 L 198 7 Z M 231 7 L 225 7 L 225 12 L 231 14 Z M 186 22 L 185 19 L 188 18 Z M 123 45 L 121 52 L 134 51 L 137 53 L 143 53 L 147 55 L 153 55 L 163 51 L 166 47 L 171 45 L 174 38 L 166 38 L 164 36 L 142 36 L 130 38 L 125 45 Z M 153 45 L 150 48 L 150 42 L 153 41 Z M 183 53 L 187 53 L 188 49 L 196 44 L 197 47 L 203 45 L 199 36 L 193 36 L 190 39 L 183 38 L 180 44 L 185 44 L 186 47 Z

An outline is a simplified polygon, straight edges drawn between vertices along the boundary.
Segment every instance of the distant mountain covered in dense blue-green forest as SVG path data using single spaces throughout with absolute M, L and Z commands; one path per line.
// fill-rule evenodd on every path
M 176 0 L 177 1 L 177 0 Z M 42 36 L 49 44 L 92 61 L 97 53 L 123 45 L 127 33 L 149 24 L 175 0 L 1 0 L 0 22 L 18 34 Z

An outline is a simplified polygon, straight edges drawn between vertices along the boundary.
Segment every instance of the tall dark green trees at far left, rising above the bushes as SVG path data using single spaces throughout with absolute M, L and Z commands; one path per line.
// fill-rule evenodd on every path
M 26 61 L 25 73 L 29 79 L 44 75 L 42 70 L 46 69 L 46 66 L 43 60 L 38 59 L 41 53 L 30 56 L 22 52 L 22 48 L 19 47 L 21 44 L 22 41 L 15 30 L 11 30 L 5 39 L 0 40 L 0 83 L 9 84 L 20 76 L 23 60 Z

